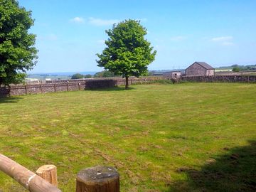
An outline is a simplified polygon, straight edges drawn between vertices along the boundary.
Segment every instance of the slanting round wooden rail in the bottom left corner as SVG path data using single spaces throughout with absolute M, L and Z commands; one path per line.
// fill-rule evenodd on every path
M 0 154 L 0 171 L 14 178 L 31 192 L 61 192 L 48 181 L 29 171 L 15 161 Z

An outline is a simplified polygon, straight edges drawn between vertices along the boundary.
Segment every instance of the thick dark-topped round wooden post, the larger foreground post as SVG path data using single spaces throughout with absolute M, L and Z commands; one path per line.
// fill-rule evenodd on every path
M 119 192 L 119 174 L 113 167 L 95 166 L 78 173 L 76 192 Z

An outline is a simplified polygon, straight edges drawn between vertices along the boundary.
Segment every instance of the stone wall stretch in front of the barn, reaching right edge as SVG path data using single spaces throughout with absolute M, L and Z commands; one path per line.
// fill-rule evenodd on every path
M 256 82 L 256 75 L 182 76 L 189 82 Z

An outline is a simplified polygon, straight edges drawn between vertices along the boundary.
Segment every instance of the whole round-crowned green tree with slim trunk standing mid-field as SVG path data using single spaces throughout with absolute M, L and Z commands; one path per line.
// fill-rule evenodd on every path
M 97 54 L 99 67 L 110 70 L 114 75 L 122 75 L 126 79 L 127 89 L 129 76 L 143 75 L 155 58 L 156 50 L 146 41 L 146 28 L 139 21 L 132 19 L 114 24 L 106 31 L 109 38 L 105 41 L 106 48 Z

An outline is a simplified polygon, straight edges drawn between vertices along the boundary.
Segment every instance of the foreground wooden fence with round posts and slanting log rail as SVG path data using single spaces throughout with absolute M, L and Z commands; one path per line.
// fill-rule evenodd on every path
M 36 174 L 0 154 L 0 171 L 14 178 L 31 192 L 61 192 L 57 168 L 41 166 Z M 113 167 L 96 166 L 82 169 L 76 178 L 76 192 L 119 192 L 119 174 Z

